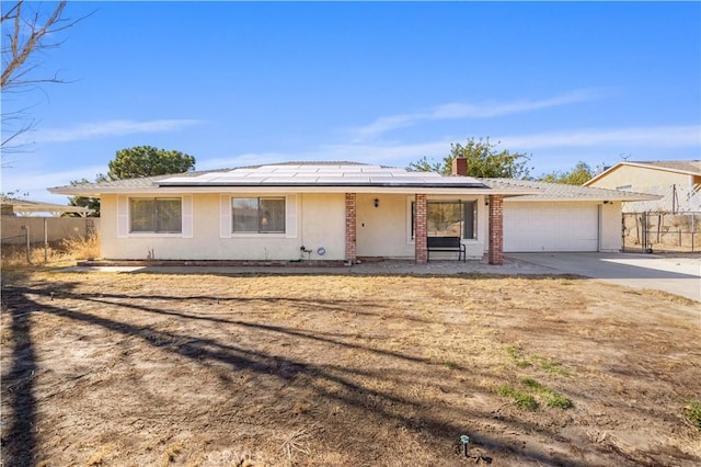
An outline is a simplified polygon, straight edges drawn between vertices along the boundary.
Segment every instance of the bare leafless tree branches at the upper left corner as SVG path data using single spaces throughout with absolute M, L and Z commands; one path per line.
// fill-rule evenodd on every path
M 18 143 L 18 137 L 36 125 L 30 114 L 31 105 L 8 109 L 8 93 L 34 90 L 44 83 L 65 82 L 57 72 L 53 76 L 42 77 L 34 71 L 41 64 L 37 57 L 43 50 L 61 45 L 62 41 L 56 39 L 55 34 L 87 18 L 82 16 L 78 20 L 64 18 L 66 3 L 66 1 L 61 1 L 51 11 L 43 13 L 41 8 L 27 7 L 24 0 L 9 5 L 8 2 L 3 2 L 0 20 L 3 35 L 2 76 L 0 78 L 3 100 L 2 141 L 0 144 L 2 156 L 8 152 L 18 152 L 23 146 Z

